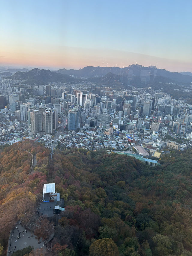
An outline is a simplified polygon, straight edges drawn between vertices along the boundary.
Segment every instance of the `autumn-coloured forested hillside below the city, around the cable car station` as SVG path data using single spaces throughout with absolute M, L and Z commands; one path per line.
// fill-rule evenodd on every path
M 29 176 L 30 154 L 22 149 L 38 160 Z M 172 151 L 152 168 L 102 150 L 55 150 L 53 182 L 65 211 L 49 220 L 53 255 L 192 255 L 191 157 L 192 150 Z M 31 141 L 1 149 L 1 245 L 18 219 L 32 218 L 48 158 L 49 150 Z

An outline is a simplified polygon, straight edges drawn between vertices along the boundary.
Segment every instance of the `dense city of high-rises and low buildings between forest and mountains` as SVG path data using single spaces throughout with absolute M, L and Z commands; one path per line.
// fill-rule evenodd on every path
M 151 165 L 191 147 L 192 106 L 161 89 L 28 85 L 2 75 L 0 86 L 1 145 L 30 139 L 50 148 L 107 148 Z

